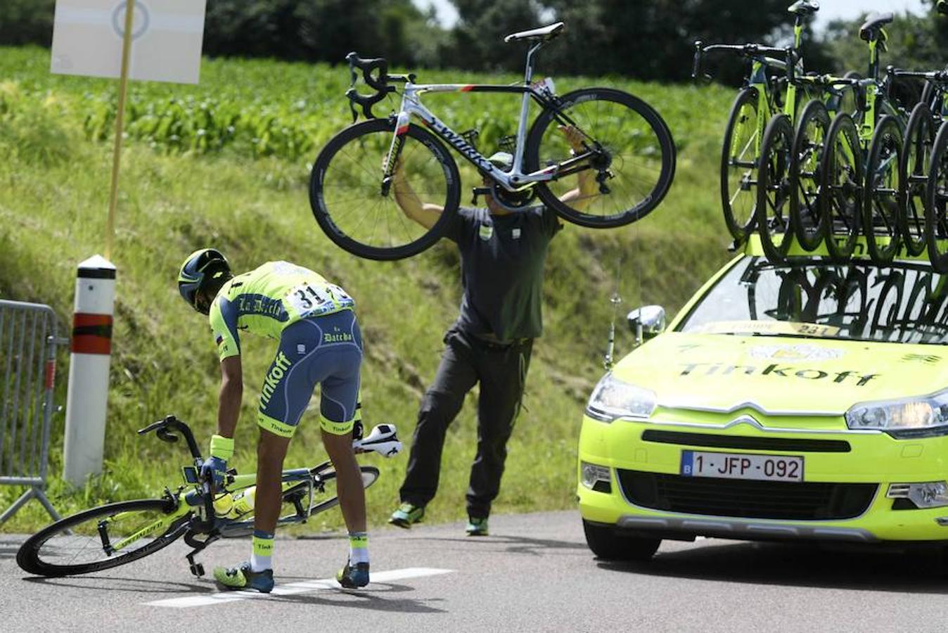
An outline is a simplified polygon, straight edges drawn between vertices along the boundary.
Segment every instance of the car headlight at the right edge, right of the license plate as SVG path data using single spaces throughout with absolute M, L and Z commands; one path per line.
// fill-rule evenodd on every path
M 853 405 L 846 412 L 852 429 L 878 429 L 894 438 L 948 435 L 948 390 L 930 396 Z

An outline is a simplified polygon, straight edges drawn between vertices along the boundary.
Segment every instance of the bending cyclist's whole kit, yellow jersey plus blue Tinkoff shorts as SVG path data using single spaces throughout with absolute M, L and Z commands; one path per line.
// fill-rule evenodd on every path
M 222 361 L 241 353 L 242 332 L 279 340 L 261 389 L 261 428 L 292 437 L 319 384 L 319 426 L 352 432 L 362 363 L 355 304 L 336 284 L 290 262 L 266 262 L 221 287 L 210 327 Z

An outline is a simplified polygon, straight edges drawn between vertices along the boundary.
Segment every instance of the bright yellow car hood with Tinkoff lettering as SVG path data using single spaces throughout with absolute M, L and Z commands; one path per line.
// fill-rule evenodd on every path
M 775 414 L 843 414 L 859 402 L 948 387 L 948 350 L 799 336 L 669 332 L 629 353 L 613 375 L 651 389 L 663 407 L 734 410 L 753 403 Z

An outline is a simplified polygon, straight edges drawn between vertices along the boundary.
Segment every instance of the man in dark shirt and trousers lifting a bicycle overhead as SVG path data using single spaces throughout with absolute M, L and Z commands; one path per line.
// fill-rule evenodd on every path
M 560 127 L 575 153 L 584 151 L 582 135 Z M 504 171 L 513 156 L 498 152 L 489 158 Z M 396 165 L 395 200 L 411 220 L 431 227 L 444 208 L 423 205 L 411 190 L 402 166 Z M 483 184 L 491 184 L 486 176 Z M 561 200 L 584 208 L 598 192 L 590 170 L 579 172 L 578 186 Z M 389 522 L 408 528 L 425 515 L 438 489 L 441 454 L 447 426 L 464 404 L 465 394 L 480 381 L 477 455 L 467 489 L 471 536 L 488 534 L 490 506 L 501 489 L 507 441 L 520 412 L 533 339 L 542 332 L 543 264 L 547 248 L 563 227 L 546 207 L 509 211 L 491 195 L 487 208 L 461 208 L 452 214 L 445 235 L 461 251 L 464 296 L 461 314 L 445 335 L 434 383 L 418 411 L 401 505 Z M 584 204 L 585 203 L 585 204 Z

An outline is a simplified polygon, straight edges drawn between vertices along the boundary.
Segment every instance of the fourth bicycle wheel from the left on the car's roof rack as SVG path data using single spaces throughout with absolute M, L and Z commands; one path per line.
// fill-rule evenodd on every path
M 820 213 L 830 258 L 846 262 L 856 247 L 862 218 L 863 150 L 852 117 L 836 115 L 820 161 Z

